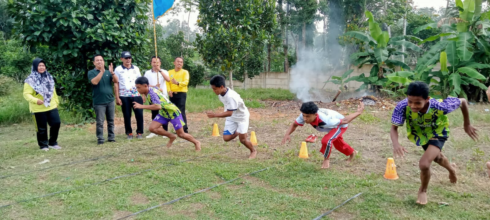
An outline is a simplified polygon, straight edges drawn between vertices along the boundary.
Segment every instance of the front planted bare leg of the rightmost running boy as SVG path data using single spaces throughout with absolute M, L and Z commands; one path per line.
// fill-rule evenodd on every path
M 422 158 L 418 161 L 418 167 L 420 168 L 420 188 L 418 189 L 417 203 L 421 205 L 427 204 L 427 186 L 429 185 L 431 171 L 430 165 L 434 159 L 441 153 L 441 149 L 434 145 L 429 145 L 427 151 L 422 155 Z

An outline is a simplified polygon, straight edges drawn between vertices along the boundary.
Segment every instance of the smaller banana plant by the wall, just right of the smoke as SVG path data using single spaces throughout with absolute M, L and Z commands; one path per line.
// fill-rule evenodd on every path
M 350 31 L 345 33 L 345 35 L 360 40 L 365 47 L 365 52 L 354 53 L 350 56 L 353 64 L 359 66 L 359 68 L 364 64 L 373 64 L 373 66 L 368 76 L 363 73 L 360 76 L 353 76 L 345 82 L 352 80 L 362 82 L 363 85 L 357 90 L 365 88 L 379 90 L 388 82 L 388 79 L 385 77 L 388 72 L 394 72 L 398 66 L 402 69 L 410 69 L 407 64 L 391 59 L 395 55 L 403 54 L 407 56 L 406 53 L 398 51 L 397 47 L 403 45 L 405 48 L 421 52 L 422 49 L 417 44 L 406 41 L 410 39 L 420 42 L 421 39 L 408 35 L 390 38 L 387 31 L 381 31 L 379 23 L 374 21 L 371 12 L 366 11 L 365 14 L 368 18 L 369 35 L 360 31 Z

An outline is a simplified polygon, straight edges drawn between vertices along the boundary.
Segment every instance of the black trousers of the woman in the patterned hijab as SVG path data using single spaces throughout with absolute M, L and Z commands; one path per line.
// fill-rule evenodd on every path
M 61 120 L 58 109 L 43 112 L 31 113 L 36 125 L 37 144 L 39 148 L 58 145 L 58 132 L 60 130 Z M 48 140 L 49 125 L 49 140 Z

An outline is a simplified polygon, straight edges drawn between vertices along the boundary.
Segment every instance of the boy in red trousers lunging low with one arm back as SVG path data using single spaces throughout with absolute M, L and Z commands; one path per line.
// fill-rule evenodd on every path
M 321 139 L 320 152 L 323 154 L 322 169 L 330 167 L 330 152 L 332 151 L 332 145 L 340 151 L 342 154 L 349 156 L 347 162 L 351 162 L 357 154 L 357 151 L 350 147 L 345 141 L 343 141 L 342 134 L 347 130 L 348 123 L 354 118 L 361 115 L 364 111 L 364 104 L 360 102 L 357 106 L 355 113 L 343 116 L 341 113 L 329 110 L 319 109 L 314 102 L 305 102 L 301 106 L 301 114 L 296 118 L 293 124 L 288 128 L 281 145 L 286 142 L 291 142 L 290 134 L 296 130 L 298 126 L 303 126 L 305 123 L 310 124 L 319 132 L 328 132 Z

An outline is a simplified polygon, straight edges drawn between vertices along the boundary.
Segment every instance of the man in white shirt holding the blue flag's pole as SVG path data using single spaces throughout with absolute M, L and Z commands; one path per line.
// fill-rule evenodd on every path
M 165 96 L 168 98 L 167 93 L 167 83 L 170 82 L 169 72 L 165 69 L 160 68 L 162 64 L 160 57 L 153 56 L 151 58 L 151 69 L 145 72 L 145 77 L 148 79 L 150 87 L 157 87 L 158 90 L 163 91 Z M 159 110 L 151 110 L 151 120 L 155 119 Z M 168 125 L 163 125 L 163 129 L 168 131 Z M 150 133 L 147 138 L 156 137 L 158 134 Z M 166 136 L 163 136 L 166 138 Z

